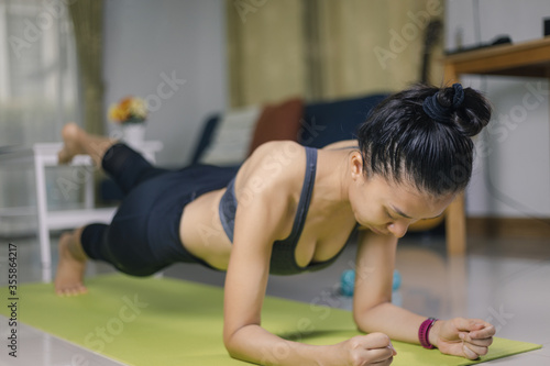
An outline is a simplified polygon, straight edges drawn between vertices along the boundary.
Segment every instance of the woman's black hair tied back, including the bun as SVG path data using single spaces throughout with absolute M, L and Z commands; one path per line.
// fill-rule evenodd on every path
M 463 99 L 457 103 L 457 95 L 462 91 Z M 427 102 L 439 103 L 443 117 L 435 118 L 424 106 Z M 460 85 L 415 85 L 389 96 L 358 132 L 365 174 L 398 184 L 408 181 L 436 197 L 459 192 L 472 176 L 471 137 L 490 119 L 488 101 L 479 91 Z

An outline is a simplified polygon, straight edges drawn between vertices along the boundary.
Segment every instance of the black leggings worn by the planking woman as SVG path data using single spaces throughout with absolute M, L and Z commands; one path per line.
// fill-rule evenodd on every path
M 197 165 L 161 169 L 124 144 L 106 152 L 102 167 L 124 199 L 111 224 L 94 223 L 84 229 L 80 242 L 88 257 L 132 276 L 150 276 L 176 262 L 207 265 L 179 240 L 182 213 L 200 195 L 226 187 L 237 168 Z

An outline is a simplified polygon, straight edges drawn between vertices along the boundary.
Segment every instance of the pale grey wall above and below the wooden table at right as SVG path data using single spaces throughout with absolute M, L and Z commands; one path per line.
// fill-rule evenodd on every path
M 448 1 L 446 47 L 472 46 L 507 34 L 514 43 L 542 37 L 546 0 Z M 477 140 L 479 154 L 468 192 L 470 217 L 550 217 L 550 119 L 548 79 L 465 77 L 494 106 L 493 126 Z M 529 102 L 529 108 L 522 103 Z M 536 102 L 531 103 L 531 102 Z M 534 107 L 532 107 L 532 106 Z M 524 113 L 525 112 L 525 113 Z

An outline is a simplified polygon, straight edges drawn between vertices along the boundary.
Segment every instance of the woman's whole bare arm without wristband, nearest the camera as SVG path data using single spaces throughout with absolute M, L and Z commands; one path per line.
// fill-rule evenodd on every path
M 304 165 L 300 165 L 304 169 Z M 292 167 L 283 171 L 292 171 Z M 265 178 L 265 177 L 264 177 Z M 261 328 L 261 309 L 267 286 L 273 242 L 285 232 L 292 200 L 288 180 L 263 179 L 262 175 L 243 181 L 262 180 L 254 197 L 240 202 L 235 215 L 233 248 L 224 289 L 223 342 L 232 357 L 263 365 L 387 365 L 393 348 L 383 334 L 356 336 L 337 345 L 317 346 L 292 342 Z M 260 179 L 260 180 L 258 180 Z M 246 182 L 244 188 L 251 188 Z M 238 192 L 239 197 L 239 192 Z M 358 363 L 358 362 L 361 362 Z

